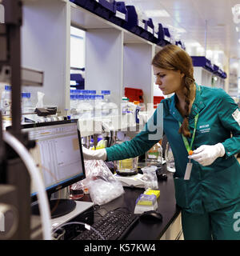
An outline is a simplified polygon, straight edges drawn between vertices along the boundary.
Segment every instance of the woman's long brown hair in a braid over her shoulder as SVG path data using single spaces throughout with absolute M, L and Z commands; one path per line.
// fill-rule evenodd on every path
M 179 46 L 168 45 L 155 54 L 152 65 L 165 70 L 180 70 L 184 74 L 184 95 L 185 95 L 185 113 L 182 126 L 178 132 L 185 137 L 190 137 L 189 114 L 190 114 L 190 90 L 194 83 L 194 67 L 192 58 Z

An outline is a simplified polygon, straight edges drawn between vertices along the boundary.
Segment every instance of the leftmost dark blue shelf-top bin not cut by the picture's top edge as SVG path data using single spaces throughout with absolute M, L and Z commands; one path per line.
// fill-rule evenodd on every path
M 142 21 L 138 20 L 138 14 L 134 6 L 126 6 L 128 12 L 128 21 L 123 26 L 126 30 L 138 34 L 141 36 L 142 32 L 145 31 L 145 25 Z

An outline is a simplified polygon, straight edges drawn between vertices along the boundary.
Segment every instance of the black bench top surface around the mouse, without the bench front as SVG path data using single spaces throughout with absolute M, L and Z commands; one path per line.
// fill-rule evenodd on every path
M 125 238 L 126 240 L 156 240 L 162 237 L 170 224 L 178 217 L 180 210 L 176 206 L 174 194 L 174 180 L 173 174 L 166 172 L 164 165 L 164 173 L 167 174 L 166 181 L 159 181 L 160 197 L 158 198 L 158 212 L 162 214 L 162 222 L 154 221 L 139 221 L 130 234 Z M 125 193 L 122 196 L 115 198 L 113 201 L 108 202 L 101 206 L 103 210 L 114 210 L 118 207 L 126 207 L 130 212 L 134 212 L 135 202 L 139 194 L 144 192 L 144 189 L 131 189 L 124 187 Z M 83 201 L 89 201 L 90 197 L 82 198 Z M 100 209 L 101 209 L 100 208 Z M 104 214 L 104 211 L 102 212 Z M 95 220 L 98 220 L 97 214 Z

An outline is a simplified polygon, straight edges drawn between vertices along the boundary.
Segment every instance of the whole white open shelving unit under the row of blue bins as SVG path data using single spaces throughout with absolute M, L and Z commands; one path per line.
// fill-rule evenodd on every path
M 44 71 L 44 104 L 70 107 L 70 26 L 86 30 L 86 90 L 111 90 L 120 106 L 124 87 L 153 102 L 151 59 L 158 46 L 67 0 L 23 2 L 22 66 Z M 36 103 L 36 101 L 34 102 Z

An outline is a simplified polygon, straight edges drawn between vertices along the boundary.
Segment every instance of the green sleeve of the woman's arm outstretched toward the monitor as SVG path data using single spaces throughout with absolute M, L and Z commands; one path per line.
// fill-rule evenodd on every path
M 133 139 L 122 144 L 106 148 L 108 161 L 122 160 L 126 158 L 135 158 L 150 150 L 154 144 L 159 142 L 163 134 L 163 107 L 162 103 L 146 123 L 144 129 Z

